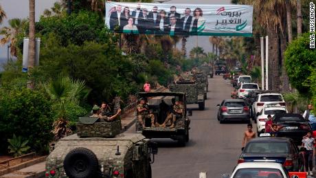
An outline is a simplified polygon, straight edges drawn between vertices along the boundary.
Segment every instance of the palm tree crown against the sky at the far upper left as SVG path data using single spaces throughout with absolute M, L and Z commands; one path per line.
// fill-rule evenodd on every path
M 2 27 L 0 30 L 0 35 L 3 36 L 3 38 L 0 39 L 0 44 L 5 45 L 6 43 L 10 43 L 10 54 L 16 56 L 16 35 L 25 31 L 27 20 L 10 19 L 8 23 L 9 27 Z

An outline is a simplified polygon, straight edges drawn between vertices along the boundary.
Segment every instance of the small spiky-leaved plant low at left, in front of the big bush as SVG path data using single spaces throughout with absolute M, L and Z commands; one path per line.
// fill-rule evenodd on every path
M 9 153 L 13 154 L 14 157 L 21 156 L 31 148 L 30 146 L 27 146 L 26 144 L 29 142 L 29 140 L 24 140 L 21 136 L 16 137 L 15 134 L 13 134 L 12 139 L 8 139 L 9 146 L 8 149 L 10 150 Z

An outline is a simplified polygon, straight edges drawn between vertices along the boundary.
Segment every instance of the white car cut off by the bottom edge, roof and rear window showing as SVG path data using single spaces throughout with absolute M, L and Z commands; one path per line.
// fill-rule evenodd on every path
M 251 177 L 276 177 L 289 178 L 289 173 L 282 164 L 275 162 L 245 162 L 238 164 L 232 175 L 223 175 L 223 178 L 251 178 Z

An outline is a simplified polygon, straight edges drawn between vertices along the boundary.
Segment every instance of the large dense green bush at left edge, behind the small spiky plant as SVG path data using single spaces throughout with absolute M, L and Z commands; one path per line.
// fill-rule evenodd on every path
M 27 136 L 32 151 L 44 153 L 52 140 L 52 102 L 45 91 L 0 89 L 0 146 L 1 153 L 8 148 L 8 138 L 16 131 Z

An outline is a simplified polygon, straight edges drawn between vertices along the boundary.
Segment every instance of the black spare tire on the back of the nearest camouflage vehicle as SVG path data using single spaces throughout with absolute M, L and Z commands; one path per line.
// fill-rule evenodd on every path
M 65 173 L 70 178 L 98 177 L 99 163 L 95 154 L 87 148 L 74 148 L 64 159 Z

